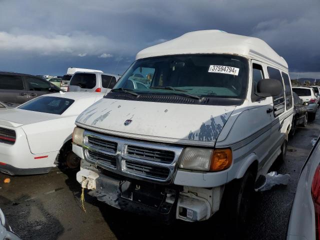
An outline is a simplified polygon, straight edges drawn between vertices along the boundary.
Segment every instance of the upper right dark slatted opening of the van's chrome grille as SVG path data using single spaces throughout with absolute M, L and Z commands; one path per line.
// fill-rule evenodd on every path
M 174 159 L 174 152 L 167 150 L 160 150 L 154 148 L 146 148 L 140 146 L 128 145 L 126 148 L 126 154 L 138 158 L 147 160 L 171 163 Z

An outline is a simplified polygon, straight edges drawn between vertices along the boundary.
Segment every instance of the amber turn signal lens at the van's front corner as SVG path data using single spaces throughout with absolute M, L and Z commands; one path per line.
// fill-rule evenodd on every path
M 221 171 L 232 163 L 232 151 L 230 148 L 214 149 L 211 156 L 210 171 Z

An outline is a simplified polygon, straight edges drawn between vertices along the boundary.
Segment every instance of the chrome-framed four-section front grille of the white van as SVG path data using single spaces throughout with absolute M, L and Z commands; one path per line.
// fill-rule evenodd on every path
M 132 178 L 169 182 L 182 147 L 127 140 L 87 131 L 84 155 L 88 162 Z

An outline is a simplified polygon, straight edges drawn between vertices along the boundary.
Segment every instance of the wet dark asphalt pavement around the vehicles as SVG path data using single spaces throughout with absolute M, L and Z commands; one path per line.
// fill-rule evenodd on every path
M 320 113 L 320 111 L 318 111 Z M 246 239 L 285 239 L 288 218 L 301 166 L 320 130 L 320 114 L 307 127 L 298 127 L 289 139 L 287 157 L 270 170 L 289 173 L 287 186 L 257 192 L 244 229 Z M 3 183 L 9 177 L 10 183 Z M 0 173 L 0 207 L 12 229 L 22 239 L 167 239 L 210 236 L 225 239 L 227 226 L 219 215 L 204 222 L 176 221 L 171 225 L 156 219 L 122 212 L 85 195 L 81 209 L 81 187 L 75 172 L 54 168 L 48 174 L 7 176 Z

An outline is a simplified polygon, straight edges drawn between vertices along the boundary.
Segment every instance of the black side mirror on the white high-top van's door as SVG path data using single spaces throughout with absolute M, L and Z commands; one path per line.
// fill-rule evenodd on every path
M 283 91 L 281 82 L 277 79 L 263 78 L 256 86 L 258 96 L 277 96 Z

